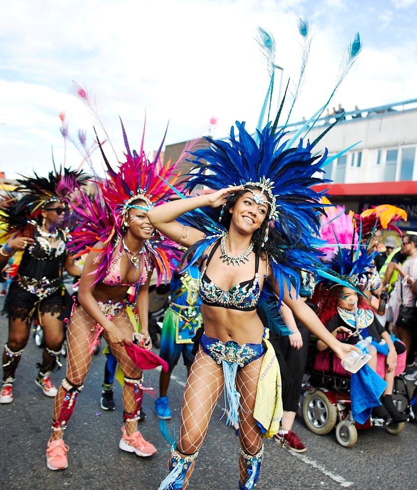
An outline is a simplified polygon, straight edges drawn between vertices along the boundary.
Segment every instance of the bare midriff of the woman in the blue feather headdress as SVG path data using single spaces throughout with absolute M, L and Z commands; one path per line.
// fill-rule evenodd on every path
M 263 324 L 253 311 L 239 311 L 219 306 L 204 305 L 204 333 L 208 337 L 238 344 L 260 344 L 264 332 Z

